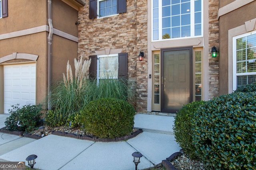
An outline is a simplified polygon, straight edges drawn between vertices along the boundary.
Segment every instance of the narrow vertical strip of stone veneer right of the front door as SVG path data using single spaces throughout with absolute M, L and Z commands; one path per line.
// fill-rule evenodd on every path
M 219 47 L 219 22 L 218 22 L 219 0 L 209 0 L 209 50 Z M 219 55 L 212 58 L 209 52 L 209 99 L 219 96 Z

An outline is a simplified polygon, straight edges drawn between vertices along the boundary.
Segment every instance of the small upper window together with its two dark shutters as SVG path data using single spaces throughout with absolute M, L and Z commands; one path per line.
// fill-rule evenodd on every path
M 126 0 L 90 0 L 89 19 L 102 18 L 126 12 Z

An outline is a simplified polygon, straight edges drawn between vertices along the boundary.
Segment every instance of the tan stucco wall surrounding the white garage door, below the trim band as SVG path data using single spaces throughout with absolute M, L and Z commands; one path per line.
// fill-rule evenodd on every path
M 45 98 L 47 87 L 47 32 L 41 32 L 21 37 L 4 39 L 0 41 L 1 53 L 0 58 L 12 53 L 28 53 L 38 55 L 36 61 L 36 103 L 42 102 Z M 0 70 L 3 64 L 22 64 L 24 62 L 34 62 L 24 59 L 14 59 L 1 63 Z M 3 82 L 3 74 L 0 71 L 0 80 Z M 3 84 L 0 84 L 0 93 L 3 93 Z M 0 98 L 0 106 L 3 104 L 3 99 Z M 0 107 L 0 111 L 3 107 Z

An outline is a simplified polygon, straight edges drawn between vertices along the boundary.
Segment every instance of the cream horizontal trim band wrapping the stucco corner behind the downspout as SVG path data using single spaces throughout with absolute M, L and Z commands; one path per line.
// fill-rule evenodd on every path
M 2 39 L 9 39 L 9 38 L 14 38 L 14 37 L 20 37 L 20 36 L 24 36 L 24 35 L 30 35 L 30 34 L 34 34 L 34 33 L 40 33 L 40 32 L 44 32 L 47 31 L 49 32 L 49 26 L 48 25 L 42 25 L 39 27 L 33 27 L 33 28 L 29 28 L 29 29 L 23 29 L 20 31 L 14 31 L 11 33 L 5 33 L 5 34 L 1 34 L 0 35 L 0 40 Z M 58 29 L 53 29 L 53 34 L 58 35 L 60 37 L 64 37 L 66 39 L 78 42 L 78 37 L 75 37 L 74 35 L 70 35 L 68 33 L 65 33 L 63 31 L 60 31 Z

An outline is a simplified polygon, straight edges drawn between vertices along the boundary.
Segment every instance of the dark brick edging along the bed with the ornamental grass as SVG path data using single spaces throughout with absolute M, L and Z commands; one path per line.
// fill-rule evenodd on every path
M 2 133 L 8 133 L 12 135 L 18 135 L 18 136 L 24 136 L 24 137 L 29 137 L 32 139 L 40 139 L 42 136 L 35 135 L 32 133 L 23 133 L 21 131 L 9 131 L 5 127 L 0 129 L 0 132 Z M 138 131 L 132 132 L 130 135 L 124 135 L 122 137 L 115 137 L 113 139 L 110 138 L 98 138 L 98 137 L 91 137 L 91 136 L 82 136 L 82 135 L 76 135 L 74 133 L 67 133 L 67 132 L 61 132 L 61 131 L 52 131 L 52 135 L 58 135 L 58 136 L 63 136 L 63 137 L 72 137 L 76 139 L 83 139 L 83 140 L 89 140 L 89 141 L 95 141 L 95 142 L 117 142 L 117 141 L 124 141 L 131 139 L 133 137 L 136 137 L 140 133 L 142 133 L 142 129 L 139 129 Z

